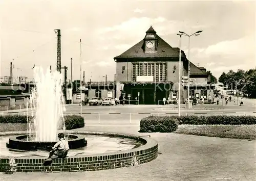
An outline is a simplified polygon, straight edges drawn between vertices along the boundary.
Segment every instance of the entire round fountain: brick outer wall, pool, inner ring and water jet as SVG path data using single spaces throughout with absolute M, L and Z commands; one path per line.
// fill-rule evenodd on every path
M 14 166 L 17 172 L 96 171 L 136 166 L 157 158 L 158 143 L 148 136 L 66 131 L 62 76 L 36 68 L 34 77 L 36 89 L 30 97 L 30 104 L 36 110 L 35 114 L 31 113 L 34 119 L 27 119 L 28 131 L 0 133 L 0 172 L 13 170 Z M 69 142 L 68 158 L 55 159 L 51 166 L 44 166 L 48 150 L 57 142 L 58 132 L 64 133 Z

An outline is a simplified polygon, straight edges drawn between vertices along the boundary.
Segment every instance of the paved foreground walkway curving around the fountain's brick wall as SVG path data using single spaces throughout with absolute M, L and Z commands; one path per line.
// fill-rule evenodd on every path
M 255 140 L 140 134 L 139 126 L 130 125 L 87 125 L 78 130 L 151 135 L 159 143 L 159 155 L 156 160 L 135 167 L 92 172 L 0 173 L 1 180 L 255 180 Z

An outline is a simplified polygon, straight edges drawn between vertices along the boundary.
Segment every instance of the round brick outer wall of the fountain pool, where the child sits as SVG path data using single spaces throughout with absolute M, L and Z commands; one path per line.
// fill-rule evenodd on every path
M 45 159 L 41 157 L 1 157 L 1 172 L 65 172 L 65 171 L 96 171 L 121 167 L 136 166 L 150 162 L 157 158 L 158 143 L 154 139 L 147 136 L 138 136 L 122 133 L 110 132 L 88 132 L 88 131 L 66 131 L 70 134 L 87 134 L 87 135 L 103 135 L 117 136 L 123 138 L 136 139 L 145 144 L 134 149 L 116 151 L 99 154 L 81 154 L 79 156 L 71 156 L 65 159 L 55 159 L 50 166 L 44 166 L 42 163 Z M 28 134 L 27 131 L 4 132 L 0 136 Z M 14 163 L 15 161 L 15 163 Z M 14 171 L 13 171 L 14 170 Z

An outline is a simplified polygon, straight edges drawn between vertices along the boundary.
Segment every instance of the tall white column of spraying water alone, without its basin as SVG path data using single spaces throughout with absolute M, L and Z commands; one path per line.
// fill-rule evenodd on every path
M 63 112 L 65 102 L 62 95 L 62 75 L 59 72 L 44 73 L 42 68 L 34 70 L 36 89 L 32 90 L 30 104 L 36 109 L 34 115 L 35 141 L 56 141 L 57 131 L 65 131 Z

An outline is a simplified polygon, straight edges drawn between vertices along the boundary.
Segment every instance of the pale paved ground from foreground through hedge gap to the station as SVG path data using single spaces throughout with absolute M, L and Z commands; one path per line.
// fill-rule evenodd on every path
M 74 114 L 80 111 L 78 105 L 68 105 L 66 108 L 67 113 Z M 243 107 L 231 104 L 205 105 L 194 107 L 191 110 L 182 108 L 182 113 L 195 115 L 228 114 L 228 112 L 233 115 L 243 115 L 243 112 L 253 111 L 255 109 L 252 104 L 245 104 Z M 23 112 L 24 110 L 20 114 Z M 138 133 L 140 118 L 148 116 L 150 113 L 177 114 L 177 106 L 83 106 L 82 112 L 88 113 L 82 114 L 86 120 L 86 126 L 77 130 L 151 135 L 159 143 L 158 158 L 136 167 L 93 172 L 18 172 L 11 175 L 0 173 L 0 180 L 255 180 L 255 140 L 174 133 Z M 97 113 L 101 113 L 100 122 L 98 122 Z M 131 122 L 128 113 L 134 113 Z

